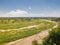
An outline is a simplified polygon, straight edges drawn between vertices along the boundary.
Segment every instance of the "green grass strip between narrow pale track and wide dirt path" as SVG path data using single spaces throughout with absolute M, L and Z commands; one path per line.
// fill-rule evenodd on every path
M 22 23 L 22 25 L 23 25 L 23 23 Z M 28 24 L 28 22 L 26 24 Z M 11 30 L 9 32 L 0 32 L 0 45 L 15 41 L 15 40 L 18 40 L 21 38 L 25 38 L 28 36 L 32 36 L 34 34 L 40 33 L 42 30 L 52 28 L 55 25 L 51 22 L 45 22 L 45 21 L 41 21 L 41 20 L 36 20 L 35 22 L 33 22 L 33 24 L 39 24 L 39 26 L 36 28 L 31 28 L 31 29 L 26 28 L 23 30 Z M 32 24 L 29 23 L 28 25 L 32 25 Z M 9 27 L 9 26 L 7 26 L 7 27 Z M 9 27 L 9 28 L 11 28 L 11 27 Z M 15 28 L 15 26 L 14 26 L 14 28 Z M 3 28 L 1 28 L 1 29 L 3 29 Z

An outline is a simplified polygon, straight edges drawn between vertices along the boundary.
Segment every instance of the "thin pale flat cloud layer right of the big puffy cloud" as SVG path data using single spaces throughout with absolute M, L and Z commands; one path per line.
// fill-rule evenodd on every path
M 31 14 L 34 17 L 60 17 L 60 11 L 47 11 L 39 14 Z

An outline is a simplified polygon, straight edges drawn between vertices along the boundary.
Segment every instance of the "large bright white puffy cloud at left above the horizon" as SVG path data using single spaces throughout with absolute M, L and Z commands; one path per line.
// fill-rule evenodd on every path
M 27 11 L 24 10 L 13 10 L 7 13 L 0 13 L 0 17 L 19 17 L 19 16 L 26 16 L 28 14 Z

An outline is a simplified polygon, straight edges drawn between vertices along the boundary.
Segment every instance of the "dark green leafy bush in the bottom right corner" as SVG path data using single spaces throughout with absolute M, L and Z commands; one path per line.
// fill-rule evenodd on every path
M 43 45 L 60 45 L 60 28 L 53 29 L 48 38 L 44 40 Z

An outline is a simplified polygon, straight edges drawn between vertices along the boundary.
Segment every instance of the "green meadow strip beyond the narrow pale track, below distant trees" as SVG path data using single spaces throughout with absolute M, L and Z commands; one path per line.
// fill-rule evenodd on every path
M 40 24 L 42 20 L 33 20 L 33 21 L 20 21 L 17 19 L 15 20 L 0 20 L 0 29 L 1 30 L 7 30 L 7 29 L 18 29 L 22 27 L 27 27 L 31 25 Z

